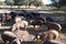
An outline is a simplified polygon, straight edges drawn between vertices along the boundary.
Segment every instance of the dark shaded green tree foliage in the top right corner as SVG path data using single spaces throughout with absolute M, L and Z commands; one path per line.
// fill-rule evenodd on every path
M 56 2 L 56 0 L 52 0 L 52 4 L 47 4 L 47 7 L 56 7 L 57 9 L 59 9 L 63 6 L 66 6 L 66 0 L 59 0 L 58 2 Z

